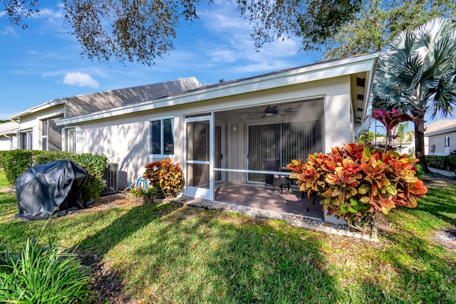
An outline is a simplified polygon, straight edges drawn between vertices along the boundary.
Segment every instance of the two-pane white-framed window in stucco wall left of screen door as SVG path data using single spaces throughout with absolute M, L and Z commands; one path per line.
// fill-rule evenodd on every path
M 149 120 L 149 154 L 174 154 L 174 117 Z

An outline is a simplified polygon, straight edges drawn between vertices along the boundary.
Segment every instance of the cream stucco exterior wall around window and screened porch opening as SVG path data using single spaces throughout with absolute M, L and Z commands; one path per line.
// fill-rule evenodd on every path
M 78 152 L 107 155 L 110 162 L 118 163 L 119 170 L 126 172 L 127 176 L 134 180 L 142 175 L 145 164 L 157 160 L 149 157 L 148 154 L 148 120 L 150 119 L 170 115 L 175 117 L 173 159 L 183 164 L 185 115 L 228 111 L 249 105 L 269 105 L 307 98 L 324 100 L 323 149 L 325 152 L 330 151 L 334 145 L 353 141 L 353 127 L 350 125 L 350 77 L 342 76 L 79 123 L 76 128 L 76 132 L 79 133 L 76 137 L 78 139 L 76 147 Z M 311 113 L 307 114 L 311 117 Z M 242 131 L 245 125 L 232 120 L 233 117 L 225 117 L 225 119 L 227 146 L 229 145 L 227 147 L 229 158 L 226 160 L 228 165 L 238 167 L 238 164 L 243 164 L 244 161 L 242 159 L 245 155 L 244 132 Z M 233 130 L 233 125 L 237 125 L 237 130 Z

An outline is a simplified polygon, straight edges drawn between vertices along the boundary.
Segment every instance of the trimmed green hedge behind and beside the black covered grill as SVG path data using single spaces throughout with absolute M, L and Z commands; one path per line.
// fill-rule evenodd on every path
M 66 158 L 73 160 L 87 171 L 87 179 L 83 185 L 83 198 L 86 201 L 99 199 L 103 191 L 103 174 L 108 167 L 108 157 L 103 154 L 70 154 L 41 150 L 1 151 L 0 167 L 4 168 L 8 182 L 15 184 L 16 178 L 29 167 Z

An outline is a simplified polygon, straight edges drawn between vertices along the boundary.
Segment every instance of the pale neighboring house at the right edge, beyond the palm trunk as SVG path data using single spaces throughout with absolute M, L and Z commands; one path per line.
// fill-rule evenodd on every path
M 427 155 L 449 155 L 456 150 L 456 120 L 437 120 L 425 127 Z

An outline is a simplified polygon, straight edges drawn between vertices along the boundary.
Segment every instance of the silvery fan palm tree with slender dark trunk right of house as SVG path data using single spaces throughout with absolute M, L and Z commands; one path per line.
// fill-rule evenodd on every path
M 410 113 L 415 153 L 425 162 L 425 113 L 454 116 L 456 105 L 456 26 L 437 18 L 403 31 L 380 53 L 373 85 L 373 107 Z

